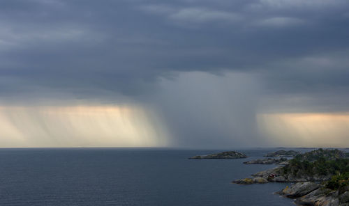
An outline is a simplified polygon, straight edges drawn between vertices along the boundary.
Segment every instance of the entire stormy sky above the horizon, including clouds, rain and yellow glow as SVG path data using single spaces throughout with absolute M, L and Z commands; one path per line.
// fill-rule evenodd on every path
M 0 1 L 0 147 L 349 147 L 349 1 Z

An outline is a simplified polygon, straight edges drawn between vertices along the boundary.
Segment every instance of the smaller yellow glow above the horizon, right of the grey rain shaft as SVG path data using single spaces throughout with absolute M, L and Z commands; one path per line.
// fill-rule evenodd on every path
M 349 113 L 264 113 L 260 132 L 270 143 L 297 147 L 349 147 Z

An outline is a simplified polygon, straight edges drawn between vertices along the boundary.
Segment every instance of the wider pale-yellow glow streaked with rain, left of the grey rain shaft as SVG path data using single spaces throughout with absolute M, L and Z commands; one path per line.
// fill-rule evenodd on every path
M 0 147 L 154 147 L 163 125 L 138 106 L 0 106 Z

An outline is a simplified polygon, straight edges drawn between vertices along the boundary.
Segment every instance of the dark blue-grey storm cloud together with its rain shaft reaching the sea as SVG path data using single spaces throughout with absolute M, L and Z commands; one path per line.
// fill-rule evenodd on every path
M 260 145 L 258 113 L 349 110 L 348 25 L 346 0 L 3 0 L 0 103 L 140 104 L 173 145 Z

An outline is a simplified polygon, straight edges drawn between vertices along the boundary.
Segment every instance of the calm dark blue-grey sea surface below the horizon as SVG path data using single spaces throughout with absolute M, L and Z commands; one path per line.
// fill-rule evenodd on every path
M 274 166 L 187 159 L 212 152 L 222 151 L 1 149 L 0 205 L 293 205 L 273 194 L 286 184 L 230 183 Z

